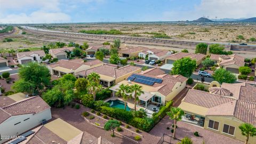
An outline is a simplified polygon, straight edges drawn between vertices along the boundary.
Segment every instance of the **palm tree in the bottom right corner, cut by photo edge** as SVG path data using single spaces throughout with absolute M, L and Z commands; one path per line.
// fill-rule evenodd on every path
M 242 135 L 245 135 L 246 139 L 245 139 L 245 144 L 248 143 L 249 137 L 254 137 L 256 135 L 256 127 L 254 127 L 253 125 L 249 124 L 249 123 L 243 123 L 239 126 L 239 129 L 242 132 Z

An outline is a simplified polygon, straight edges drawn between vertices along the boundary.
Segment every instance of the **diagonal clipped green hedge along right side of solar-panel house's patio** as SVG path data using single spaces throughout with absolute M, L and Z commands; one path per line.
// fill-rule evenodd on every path
M 165 106 L 162 107 L 154 116 L 152 117 L 155 125 L 166 115 L 167 111 L 170 111 L 172 106 L 172 101 L 166 102 Z

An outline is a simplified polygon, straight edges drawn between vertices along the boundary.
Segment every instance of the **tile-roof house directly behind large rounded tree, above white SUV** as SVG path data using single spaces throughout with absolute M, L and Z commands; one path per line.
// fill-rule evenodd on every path
M 196 60 L 196 64 L 200 65 L 201 62 L 205 59 L 206 55 L 201 53 L 186 53 L 186 52 L 178 52 L 170 55 L 169 57 L 165 58 L 165 63 L 172 64 L 175 60 L 179 60 L 182 58 L 191 58 Z

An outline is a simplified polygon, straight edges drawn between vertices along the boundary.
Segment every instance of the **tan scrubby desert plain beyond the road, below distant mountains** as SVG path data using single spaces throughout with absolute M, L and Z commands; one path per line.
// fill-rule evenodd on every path
M 151 34 L 145 33 L 165 33 L 175 39 L 188 39 L 196 41 L 216 41 L 246 42 L 246 39 L 256 37 L 256 25 L 234 25 L 223 23 L 221 25 L 197 25 L 197 24 L 174 24 L 174 23 L 95 23 L 84 25 L 47 25 L 40 28 L 51 30 L 78 32 L 79 30 L 120 30 L 123 35 L 142 37 L 151 37 Z M 243 35 L 244 40 L 237 39 L 238 35 Z M 255 42 L 254 42 L 255 43 Z

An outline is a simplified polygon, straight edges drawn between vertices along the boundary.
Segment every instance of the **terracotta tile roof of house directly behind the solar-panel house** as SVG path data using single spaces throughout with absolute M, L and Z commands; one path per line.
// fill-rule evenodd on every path
M 129 74 L 135 70 L 139 70 L 139 67 L 127 65 L 124 67 L 117 68 L 117 65 L 103 65 L 99 67 L 94 67 L 91 69 L 83 70 L 81 72 L 78 72 L 78 75 L 83 75 L 87 76 L 91 73 L 97 73 L 105 76 L 110 76 L 110 77 L 121 77 L 123 75 Z

